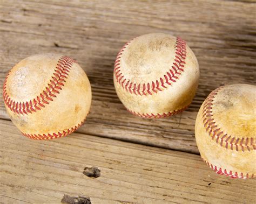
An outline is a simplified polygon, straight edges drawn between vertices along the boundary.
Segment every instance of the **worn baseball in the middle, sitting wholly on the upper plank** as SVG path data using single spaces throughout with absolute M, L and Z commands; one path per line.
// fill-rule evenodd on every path
M 150 33 L 124 45 L 113 78 L 127 110 L 140 117 L 160 118 L 190 105 L 198 86 L 199 66 L 184 40 Z

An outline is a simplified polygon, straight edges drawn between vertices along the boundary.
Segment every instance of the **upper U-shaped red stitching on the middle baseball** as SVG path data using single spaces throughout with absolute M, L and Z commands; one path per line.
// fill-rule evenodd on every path
M 117 58 L 114 63 L 114 76 L 117 82 L 123 87 L 124 90 L 126 90 L 126 92 L 130 92 L 131 94 L 135 95 L 152 95 L 158 91 L 161 92 L 168 86 L 171 86 L 173 82 L 176 82 L 179 79 L 181 72 L 184 72 L 186 59 L 186 42 L 178 37 L 176 39 L 176 56 L 174 58 L 173 65 L 163 77 L 160 77 L 156 81 L 147 83 L 136 83 L 126 79 L 122 73 L 120 58 L 125 51 L 125 48 L 131 43 L 131 41 L 126 43 L 121 51 L 117 54 Z M 126 83 L 124 84 L 125 81 Z

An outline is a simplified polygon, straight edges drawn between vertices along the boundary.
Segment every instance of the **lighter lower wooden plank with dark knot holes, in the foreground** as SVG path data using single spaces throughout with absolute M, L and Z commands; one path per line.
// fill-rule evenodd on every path
M 60 202 L 64 194 L 94 203 L 253 203 L 254 179 L 215 174 L 198 155 L 73 133 L 35 142 L 0 121 L 0 199 Z M 96 166 L 100 177 L 83 174 Z

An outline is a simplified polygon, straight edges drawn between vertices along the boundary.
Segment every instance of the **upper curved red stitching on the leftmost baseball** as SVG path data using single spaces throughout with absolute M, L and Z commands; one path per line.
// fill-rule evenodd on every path
M 55 72 L 53 72 L 50 82 L 48 86 L 45 87 L 43 92 L 36 96 L 34 99 L 26 102 L 18 102 L 14 101 L 10 98 L 6 90 L 6 83 L 8 80 L 8 76 L 11 72 L 9 71 L 8 75 L 4 80 L 3 86 L 3 98 L 6 106 L 15 114 L 32 114 L 32 112 L 36 112 L 45 107 L 45 105 L 49 104 L 50 101 L 53 101 L 54 97 L 59 94 L 59 90 L 62 90 L 65 79 L 68 78 L 70 69 L 75 60 L 70 57 L 64 56 L 58 60 L 58 63 L 55 68 Z

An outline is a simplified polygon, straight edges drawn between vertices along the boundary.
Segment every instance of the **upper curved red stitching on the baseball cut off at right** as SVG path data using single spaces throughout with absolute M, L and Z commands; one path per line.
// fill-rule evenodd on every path
M 215 140 L 220 146 L 225 146 L 226 149 L 239 151 L 241 149 L 244 151 L 256 150 L 256 145 L 254 143 L 254 138 L 240 138 L 235 139 L 234 136 L 227 135 L 224 130 L 218 128 L 218 125 L 214 121 L 214 116 L 212 113 L 212 104 L 214 102 L 215 95 L 218 94 L 219 90 L 224 86 L 219 87 L 208 95 L 205 102 L 203 103 L 203 123 L 208 132 L 209 136 Z

